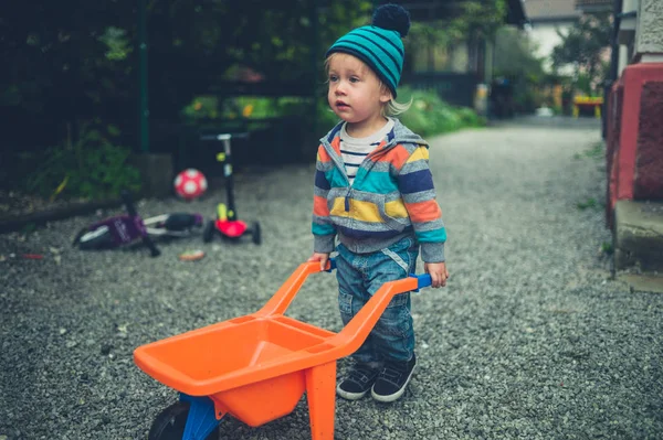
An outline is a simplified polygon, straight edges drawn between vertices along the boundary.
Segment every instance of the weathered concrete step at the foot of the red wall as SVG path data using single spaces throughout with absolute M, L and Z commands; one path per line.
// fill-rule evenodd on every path
M 663 275 L 663 202 L 618 201 L 614 269 Z

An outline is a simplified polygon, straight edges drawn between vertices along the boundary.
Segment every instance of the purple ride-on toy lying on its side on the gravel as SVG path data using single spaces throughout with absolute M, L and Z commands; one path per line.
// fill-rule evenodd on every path
M 149 248 L 152 257 L 161 253 L 150 236 L 185 237 L 194 229 L 201 230 L 203 217 L 200 214 L 175 213 L 143 219 L 134 206 L 127 191 L 120 193 L 127 214 L 105 218 L 84 227 L 74 238 L 73 246 L 82 250 L 112 249 L 139 239 Z

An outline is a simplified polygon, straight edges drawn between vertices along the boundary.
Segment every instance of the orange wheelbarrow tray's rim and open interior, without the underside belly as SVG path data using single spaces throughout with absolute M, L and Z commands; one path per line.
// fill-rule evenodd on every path
M 136 350 L 136 364 L 164 385 L 208 396 L 336 357 L 336 333 L 284 315 L 246 315 Z

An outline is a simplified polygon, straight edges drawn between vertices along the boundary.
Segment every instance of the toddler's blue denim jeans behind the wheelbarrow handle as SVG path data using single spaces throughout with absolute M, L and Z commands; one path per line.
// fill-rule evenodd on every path
M 338 307 L 346 325 L 385 282 L 414 272 L 419 246 L 414 238 L 403 238 L 372 254 L 354 254 L 343 244 L 336 250 Z M 358 363 L 378 367 L 385 362 L 410 361 L 413 354 L 410 292 L 406 292 L 391 299 L 376 326 L 351 357 Z

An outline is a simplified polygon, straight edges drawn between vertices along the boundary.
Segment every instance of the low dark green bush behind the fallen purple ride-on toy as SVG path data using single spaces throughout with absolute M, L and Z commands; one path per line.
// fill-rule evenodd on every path
M 114 127 L 106 135 L 85 125 L 75 142 L 52 147 L 40 154 L 22 157 L 31 170 L 22 189 L 34 195 L 54 198 L 83 197 L 103 200 L 116 197 L 123 189 L 140 190 L 140 174 L 129 165 L 130 150 L 110 142 L 117 135 Z

